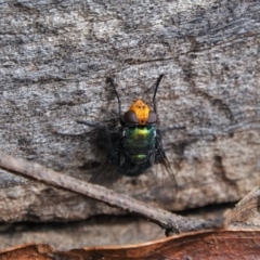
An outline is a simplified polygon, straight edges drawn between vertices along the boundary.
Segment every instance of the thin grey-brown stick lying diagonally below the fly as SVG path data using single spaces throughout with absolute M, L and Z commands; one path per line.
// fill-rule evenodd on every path
M 29 162 L 21 158 L 14 158 L 0 152 L 0 167 L 29 179 L 34 179 L 49 185 L 67 190 L 69 192 L 86 195 L 101 200 L 109 206 L 120 208 L 131 213 L 148 219 L 159 224 L 168 233 L 180 233 L 202 229 L 213 229 L 218 225 L 216 221 L 184 218 L 170 213 L 166 210 L 152 207 L 129 196 L 117 194 L 112 190 L 80 181 L 78 179 L 58 173 L 44 168 L 36 162 Z

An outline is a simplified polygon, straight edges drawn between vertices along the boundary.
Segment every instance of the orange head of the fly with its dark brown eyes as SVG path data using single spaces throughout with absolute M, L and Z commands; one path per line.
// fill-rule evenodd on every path
M 125 113 L 123 121 L 138 125 L 155 123 L 157 115 L 142 100 L 136 100 L 130 106 L 129 110 Z

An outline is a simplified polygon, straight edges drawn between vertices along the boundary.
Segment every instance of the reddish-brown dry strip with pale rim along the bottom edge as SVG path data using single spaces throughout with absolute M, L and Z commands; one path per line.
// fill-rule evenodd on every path
M 27 244 L 0 251 L 1 260 L 157 260 L 157 259 L 258 259 L 259 230 L 207 231 L 176 235 L 129 246 L 84 247 L 56 251 L 49 245 Z

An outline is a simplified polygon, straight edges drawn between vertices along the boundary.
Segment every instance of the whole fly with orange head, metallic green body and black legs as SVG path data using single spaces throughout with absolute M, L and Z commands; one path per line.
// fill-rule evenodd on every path
M 160 75 L 156 81 L 153 110 L 143 100 L 139 99 L 123 115 L 121 115 L 121 101 L 114 80 L 108 78 L 118 101 L 120 127 L 116 132 L 112 132 L 106 126 L 81 120 L 78 122 L 99 128 L 106 133 L 109 153 L 101 169 L 113 165 L 119 176 L 135 178 L 145 174 L 154 165 L 161 165 L 170 179 L 171 188 L 177 191 L 176 177 L 162 148 L 160 130 L 157 128 L 156 93 L 162 77 L 164 75 Z M 92 174 L 91 183 L 104 184 L 104 171 L 102 172 L 101 169 Z

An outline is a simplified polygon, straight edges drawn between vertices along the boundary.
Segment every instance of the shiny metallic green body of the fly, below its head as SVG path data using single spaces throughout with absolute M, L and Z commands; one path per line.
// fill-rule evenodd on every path
M 133 164 L 147 160 L 155 148 L 155 126 L 135 126 L 123 129 L 123 151 Z

